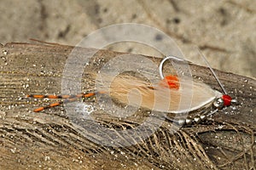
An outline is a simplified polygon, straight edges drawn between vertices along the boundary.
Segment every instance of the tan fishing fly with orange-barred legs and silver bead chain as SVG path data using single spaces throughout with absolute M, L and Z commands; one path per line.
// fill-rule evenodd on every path
M 212 116 L 217 111 L 223 109 L 225 106 L 237 104 L 236 99 L 232 99 L 222 83 L 218 80 L 217 75 L 212 70 L 212 67 L 207 62 L 207 59 L 202 55 L 212 75 L 218 81 L 219 86 L 223 89 L 224 94 L 218 92 L 207 86 L 203 82 L 193 82 L 193 84 L 183 83 L 179 81 L 177 75 L 164 76 L 163 67 L 166 60 L 175 60 L 178 62 L 185 61 L 175 56 L 167 56 L 162 59 L 159 65 L 160 82 L 158 84 L 151 84 L 140 78 L 135 78 L 131 75 L 123 75 L 115 77 L 111 83 L 109 91 L 94 91 L 76 95 L 42 95 L 30 94 L 26 95 L 28 98 L 35 99 L 62 99 L 50 105 L 45 105 L 34 110 L 34 112 L 44 111 L 45 109 L 52 108 L 58 105 L 66 104 L 76 101 L 77 99 L 89 99 L 96 96 L 96 94 L 108 94 L 113 99 L 117 99 L 123 104 L 139 106 L 152 111 L 162 111 L 172 114 L 183 114 L 185 112 L 193 112 L 201 108 L 207 108 L 200 111 L 194 117 L 187 117 L 177 121 L 178 124 L 193 124 L 204 121 L 208 116 Z M 180 104 L 182 93 L 191 92 L 191 103 Z M 157 94 L 157 95 L 156 95 Z M 160 97 L 157 97 L 160 96 Z M 166 103 L 167 101 L 167 103 Z M 157 103 L 157 105 L 155 105 Z M 167 105 L 167 106 L 166 106 Z M 179 105 L 184 105 L 179 109 Z

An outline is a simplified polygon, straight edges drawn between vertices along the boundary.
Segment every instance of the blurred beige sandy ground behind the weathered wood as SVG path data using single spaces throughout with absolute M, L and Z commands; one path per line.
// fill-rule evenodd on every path
M 36 38 L 76 45 L 104 26 L 140 23 L 164 31 L 197 65 L 204 63 L 195 46 L 213 68 L 256 77 L 255 7 L 254 0 L 1 0 L 0 43 Z M 132 42 L 108 48 L 159 55 Z

